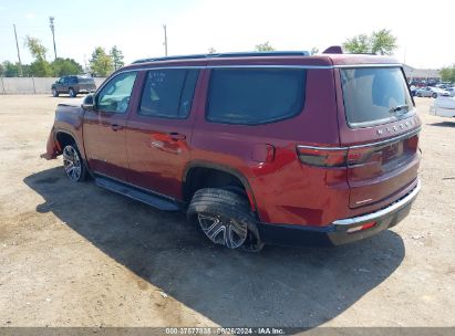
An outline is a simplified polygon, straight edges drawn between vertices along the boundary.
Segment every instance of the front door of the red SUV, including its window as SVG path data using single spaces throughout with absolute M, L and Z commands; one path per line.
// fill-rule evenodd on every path
M 121 73 L 95 96 L 93 111 L 84 115 L 83 137 L 89 167 L 118 180 L 126 180 L 126 119 L 137 72 Z

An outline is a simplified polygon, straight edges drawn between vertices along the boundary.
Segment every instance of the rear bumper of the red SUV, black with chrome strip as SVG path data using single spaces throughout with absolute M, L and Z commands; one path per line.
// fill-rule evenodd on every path
M 411 206 L 420 190 L 421 183 L 417 181 L 412 191 L 386 208 L 354 218 L 337 220 L 327 227 L 259 223 L 259 235 L 265 243 L 280 245 L 341 245 L 354 242 L 396 225 L 410 213 Z M 374 227 L 350 232 L 371 222 L 375 222 Z

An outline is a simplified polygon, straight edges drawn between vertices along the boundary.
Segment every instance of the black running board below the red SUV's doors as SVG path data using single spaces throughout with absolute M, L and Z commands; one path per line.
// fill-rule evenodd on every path
M 95 183 L 104 189 L 122 193 L 126 197 L 130 197 L 136 201 L 146 203 L 148 206 L 152 206 L 156 209 L 164 210 L 164 211 L 179 211 L 182 208 L 179 204 L 175 201 L 165 199 L 163 197 L 159 197 L 157 195 L 152 195 L 145 191 L 142 191 L 139 189 L 136 189 L 134 187 L 113 181 L 111 179 L 102 178 L 102 177 L 96 177 L 95 178 Z

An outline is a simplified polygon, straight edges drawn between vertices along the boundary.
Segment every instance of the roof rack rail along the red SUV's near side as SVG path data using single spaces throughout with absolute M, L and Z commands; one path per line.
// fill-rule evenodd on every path
M 231 52 L 231 53 L 214 53 L 214 54 L 196 54 L 167 57 L 151 57 L 134 61 L 132 64 L 158 62 L 158 61 L 178 61 L 178 60 L 197 60 L 197 59 L 221 59 L 221 57 L 245 57 L 245 56 L 309 56 L 308 51 L 252 51 L 252 52 Z

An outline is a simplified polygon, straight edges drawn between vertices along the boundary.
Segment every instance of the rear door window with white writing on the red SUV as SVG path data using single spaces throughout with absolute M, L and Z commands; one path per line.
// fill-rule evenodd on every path
M 138 114 L 186 118 L 192 108 L 197 70 L 163 69 L 147 73 Z

